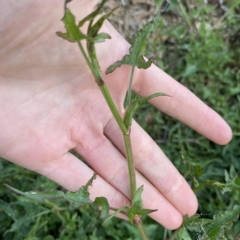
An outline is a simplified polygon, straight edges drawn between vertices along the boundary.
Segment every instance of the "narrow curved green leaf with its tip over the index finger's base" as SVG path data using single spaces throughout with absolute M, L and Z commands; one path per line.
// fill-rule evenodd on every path
M 160 96 L 169 96 L 165 93 L 154 93 L 150 96 L 147 97 L 143 97 L 143 98 L 138 98 L 136 100 L 134 100 L 130 107 L 127 108 L 126 110 L 126 114 L 125 114 L 125 118 L 124 118 L 124 123 L 126 128 L 129 130 L 131 125 L 132 125 L 132 119 L 133 119 L 133 115 L 136 112 L 136 110 L 145 102 L 149 101 L 152 98 L 155 97 L 160 97 Z

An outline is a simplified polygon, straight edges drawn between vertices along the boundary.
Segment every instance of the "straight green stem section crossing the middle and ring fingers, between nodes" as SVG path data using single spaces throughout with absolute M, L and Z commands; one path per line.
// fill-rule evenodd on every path
M 124 137 L 126 157 L 128 162 L 130 193 L 131 193 L 130 196 L 131 196 L 131 200 L 133 200 L 136 192 L 136 174 L 135 174 L 135 166 L 134 166 L 133 154 L 132 154 L 130 131 L 127 134 L 123 134 L 123 137 Z

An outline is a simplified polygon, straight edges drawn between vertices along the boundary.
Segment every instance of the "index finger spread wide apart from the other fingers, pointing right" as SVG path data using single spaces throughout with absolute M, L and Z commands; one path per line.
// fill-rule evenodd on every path
M 133 89 L 141 96 L 155 92 L 170 95 L 153 99 L 151 103 L 218 144 L 231 140 L 230 127 L 214 110 L 155 65 L 147 71 L 138 70 Z

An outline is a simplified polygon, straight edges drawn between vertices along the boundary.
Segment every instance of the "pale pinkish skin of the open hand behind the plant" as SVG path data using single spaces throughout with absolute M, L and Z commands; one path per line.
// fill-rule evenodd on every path
M 71 5 L 80 19 L 97 2 Z M 77 45 L 56 36 L 64 31 L 62 16 L 59 0 L 0 1 L 0 156 L 72 191 L 86 184 L 94 170 L 98 176 L 91 199 L 105 196 L 112 207 L 121 207 L 129 204 L 130 195 L 121 132 Z M 102 31 L 112 36 L 97 46 L 104 72 L 128 53 L 129 45 L 109 23 Z M 129 75 L 124 66 L 104 76 L 121 114 Z M 171 95 L 151 104 L 217 144 L 231 140 L 230 127 L 214 110 L 156 66 L 136 71 L 133 90 L 141 96 L 158 91 Z M 136 122 L 131 134 L 144 207 L 158 209 L 150 216 L 175 229 L 183 215 L 196 212 L 197 199 Z

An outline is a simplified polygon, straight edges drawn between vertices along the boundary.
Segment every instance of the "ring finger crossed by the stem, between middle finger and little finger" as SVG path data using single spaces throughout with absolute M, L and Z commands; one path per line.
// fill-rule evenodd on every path
M 111 131 L 108 133 L 112 134 Z M 121 136 L 117 137 L 119 137 L 118 139 L 122 138 Z M 91 148 L 84 150 L 79 145 L 76 151 L 81 154 L 102 179 L 129 198 L 129 178 L 125 157 L 105 136 L 99 137 L 98 140 L 95 138 L 93 141 L 91 142 Z M 159 209 L 151 217 L 166 228 L 174 229 L 179 227 L 182 223 L 181 213 L 138 172 L 136 173 L 136 179 L 138 187 L 143 185 L 145 189 L 143 195 L 144 207 Z M 99 190 L 96 189 L 96 191 L 99 193 Z

